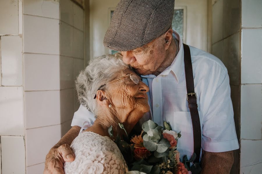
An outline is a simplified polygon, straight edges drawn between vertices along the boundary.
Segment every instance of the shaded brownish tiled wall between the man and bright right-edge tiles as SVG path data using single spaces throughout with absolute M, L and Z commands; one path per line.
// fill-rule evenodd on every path
M 240 121 L 240 0 L 212 1 L 212 54 L 226 66 L 230 79 L 235 126 Z M 234 151 L 231 173 L 239 173 L 239 150 Z

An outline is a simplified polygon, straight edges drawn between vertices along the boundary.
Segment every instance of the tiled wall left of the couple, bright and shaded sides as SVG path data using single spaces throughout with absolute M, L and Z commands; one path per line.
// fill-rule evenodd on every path
M 79 107 L 84 10 L 70 0 L 0 1 L 0 25 L 0 174 L 43 173 Z

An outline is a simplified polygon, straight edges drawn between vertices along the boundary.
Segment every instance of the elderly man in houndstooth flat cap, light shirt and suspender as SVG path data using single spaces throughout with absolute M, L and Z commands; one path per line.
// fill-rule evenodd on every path
M 120 51 L 148 84 L 148 115 L 154 122 L 165 120 L 181 131 L 180 157 L 195 152 L 202 173 L 229 173 L 239 146 L 227 70 L 215 56 L 183 46 L 171 29 L 173 11 L 174 0 L 121 0 L 104 45 Z M 63 173 L 63 163 L 74 160 L 72 140 L 85 121 L 93 120 L 80 106 L 70 131 L 47 154 L 45 173 Z

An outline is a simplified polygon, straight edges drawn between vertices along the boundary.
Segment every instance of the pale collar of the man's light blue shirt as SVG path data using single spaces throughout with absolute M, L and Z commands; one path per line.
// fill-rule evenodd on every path
M 183 66 L 184 66 L 184 48 L 183 48 L 183 41 L 176 31 L 173 32 L 173 37 L 176 38 L 177 40 L 179 40 L 178 54 L 176 55 L 172 64 L 169 67 L 167 67 L 162 73 L 160 73 L 158 76 L 168 75 L 170 73 L 170 71 L 173 71 L 173 73 L 176 76 L 177 83 L 178 83 L 179 79 L 182 75 Z M 152 75 L 152 74 L 141 75 L 141 77 L 145 77 L 145 78 L 155 78 L 155 77 L 158 77 L 158 76 L 155 76 L 155 75 Z

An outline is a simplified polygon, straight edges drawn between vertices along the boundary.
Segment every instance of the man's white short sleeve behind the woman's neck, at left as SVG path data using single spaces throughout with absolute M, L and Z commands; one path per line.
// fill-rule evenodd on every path
M 85 106 L 80 105 L 78 110 L 74 113 L 71 126 L 82 127 L 84 122 L 93 125 L 95 121 L 94 114 L 91 113 Z

